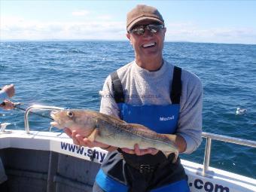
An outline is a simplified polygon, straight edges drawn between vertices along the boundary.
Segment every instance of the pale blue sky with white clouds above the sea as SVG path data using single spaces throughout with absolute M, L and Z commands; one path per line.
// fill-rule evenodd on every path
M 256 44 L 256 1 L 0 0 L 0 40 L 126 40 L 138 4 L 163 15 L 166 41 Z

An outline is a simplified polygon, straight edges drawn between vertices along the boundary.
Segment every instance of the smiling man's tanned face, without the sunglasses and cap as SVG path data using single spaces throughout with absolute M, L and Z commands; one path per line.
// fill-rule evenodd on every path
M 159 25 L 152 21 L 142 21 L 136 24 L 133 29 L 137 29 L 138 26 Z M 136 33 L 128 33 L 126 36 L 130 40 L 130 44 L 136 53 L 136 60 L 147 61 L 148 59 L 160 59 L 162 57 L 163 41 L 166 33 L 166 28 L 159 29 L 156 33 L 151 33 L 148 29 L 145 29 L 144 34 L 138 35 Z

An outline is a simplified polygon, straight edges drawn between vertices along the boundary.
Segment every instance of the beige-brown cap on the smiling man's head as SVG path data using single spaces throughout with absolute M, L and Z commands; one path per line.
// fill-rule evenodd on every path
M 148 5 L 137 5 L 127 14 L 126 29 L 127 32 L 142 20 L 153 20 L 164 25 L 164 20 L 160 12 Z

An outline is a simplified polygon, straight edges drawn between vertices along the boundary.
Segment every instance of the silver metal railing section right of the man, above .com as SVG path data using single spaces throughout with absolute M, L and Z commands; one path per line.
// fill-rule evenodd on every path
M 209 171 L 210 157 L 211 157 L 211 148 L 212 148 L 212 140 L 217 140 L 221 142 L 229 142 L 236 145 L 245 145 L 251 148 L 256 148 L 256 142 L 248 140 L 248 139 L 240 139 L 236 137 L 223 136 L 215 133 L 202 133 L 202 137 L 206 138 L 206 147 L 205 147 L 205 155 L 203 160 L 203 169 L 200 169 L 198 172 L 199 175 L 203 175 L 206 177 L 212 178 L 214 172 Z

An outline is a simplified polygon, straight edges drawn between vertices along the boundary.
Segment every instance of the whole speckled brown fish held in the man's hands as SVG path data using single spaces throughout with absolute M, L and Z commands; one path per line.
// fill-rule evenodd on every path
M 178 158 L 178 147 L 173 135 L 156 133 L 148 127 L 136 123 L 126 123 L 117 117 L 84 109 L 63 109 L 50 112 L 54 122 L 50 125 L 58 129 L 69 128 L 91 142 L 102 142 L 117 148 L 156 148 L 165 154 L 174 153 L 173 163 Z

